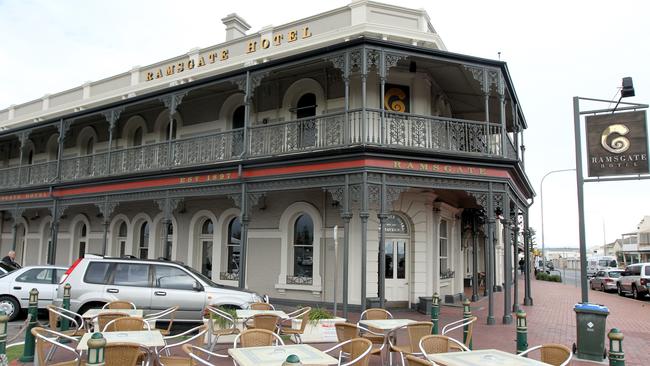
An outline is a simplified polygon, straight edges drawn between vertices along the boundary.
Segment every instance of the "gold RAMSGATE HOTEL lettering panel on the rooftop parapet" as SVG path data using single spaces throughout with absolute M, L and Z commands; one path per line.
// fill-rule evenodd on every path
M 152 81 L 155 79 L 161 79 L 174 74 L 190 71 L 195 68 L 201 68 L 206 65 L 224 62 L 233 57 L 233 53 L 235 55 L 238 55 L 239 53 L 252 54 L 261 50 L 280 47 L 284 44 L 291 44 L 309 37 L 311 37 L 311 30 L 308 26 L 289 29 L 285 32 L 274 33 L 268 38 L 260 37 L 258 39 L 236 43 L 229 47 L 219 48 L 199 54 L 196 58 L 188 57 L 173 64 L 156 67 L 155 69 L 146 72 L 145 80 Z

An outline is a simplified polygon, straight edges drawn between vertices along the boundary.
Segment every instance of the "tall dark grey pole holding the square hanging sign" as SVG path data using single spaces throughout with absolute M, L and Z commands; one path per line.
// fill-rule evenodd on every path
M 582 303 L 589 302 L 587 289 L 587 240 L 585 235 L 584 177 L 582 176 L 582 136 L 580 133 L 580 97 L 573 97 L 573 127 L 576 148 L 576 184 L 578 186 L 578 230 L 580 232 L 580 292 Z

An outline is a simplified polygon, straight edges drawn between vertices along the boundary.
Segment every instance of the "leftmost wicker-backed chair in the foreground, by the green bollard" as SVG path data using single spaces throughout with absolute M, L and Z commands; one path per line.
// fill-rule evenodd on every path
M 36 359 L 38 360 L 39 365 L 48 365 L 48 366 L 76 366 L 76 365 L 85 365 L 81 361 L 81 353 L 78 352 L 75 348 L 77 346 L 78 339 L 74 337 L 67 336 L 63 333 L 53 331 L 51 329 L 45 329 L 41 327 L 32 328 L 32 335 L 35 338 L 35 350 L 36 350 Z M 60 341 L 65 340 L 66 343 L 61 343 Z M 48 349 L 47 346 L 50 346 Z M 57 363 L 52 363 L 49 361 L 49 356 L 52 355 L 52 352 L 57 350 L 65 351 L 72 360 L 69 361 L 59 361 Z M 61 358 L 61 357 L 57 357 Z

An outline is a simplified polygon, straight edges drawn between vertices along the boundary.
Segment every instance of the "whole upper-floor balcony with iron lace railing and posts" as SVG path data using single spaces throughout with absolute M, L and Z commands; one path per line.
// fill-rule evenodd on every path
M 361 146 L 517 165 L 507 69 L 457 58 L 350 47 L 9 131 L 0 189 Z

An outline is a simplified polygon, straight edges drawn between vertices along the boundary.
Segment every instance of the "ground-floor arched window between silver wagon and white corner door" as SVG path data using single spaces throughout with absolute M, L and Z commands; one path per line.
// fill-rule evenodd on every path
M 314 268 L 314 222 L 306 214 L 300 215 L 293 228 L 293 275 L 313 276 Z

